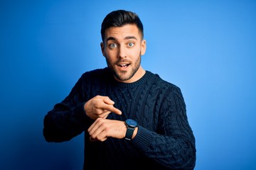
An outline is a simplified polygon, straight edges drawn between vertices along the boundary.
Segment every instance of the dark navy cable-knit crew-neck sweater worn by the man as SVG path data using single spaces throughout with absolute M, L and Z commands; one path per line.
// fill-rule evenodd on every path
M 107 119 L 137 121 L 134 140 L 109 137 L 90 142 L 87 129 L 93 120 L 83 106 L 97 95 L 109 96 L 122 111 Z M 196 163 L 195 138 L 181 90 L 149 71 L 129 84 L 116 81 L 107 68 L 82 74 L 70 94 L 45 116 L 43 135 L 48 142 L 63 142 L 82 132 L 84 169 L 193 169 Z

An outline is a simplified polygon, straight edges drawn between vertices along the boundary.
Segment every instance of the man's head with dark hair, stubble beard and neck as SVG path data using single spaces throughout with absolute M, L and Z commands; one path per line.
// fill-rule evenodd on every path
M 102 22 L 102 55 L 117 81 L 132 83 L 145 73 L 141 56 L 146 52 L 143 26 L 129 11 L 113 11 Z

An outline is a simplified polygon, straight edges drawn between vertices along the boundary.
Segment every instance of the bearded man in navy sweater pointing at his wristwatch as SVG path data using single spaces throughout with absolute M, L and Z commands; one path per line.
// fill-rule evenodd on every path
M 85 72 L 44 118 L 48 142 L 85 132 L 84 169 L 193 169 L 196 147 L 181 90 L 142 68 L 146 52 L 136 13 L 102 22 L 104 69 Z

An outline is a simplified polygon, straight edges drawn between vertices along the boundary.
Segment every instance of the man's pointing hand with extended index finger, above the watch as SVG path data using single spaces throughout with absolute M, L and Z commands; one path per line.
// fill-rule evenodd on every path
M 97 118 L 107 118 L 110 113 L 121 115 L 118 108 L 114 108 L 114 101 L 107 96 L 95 96 L 85 103 L 85 113 L 87 116 L 96 120 Z

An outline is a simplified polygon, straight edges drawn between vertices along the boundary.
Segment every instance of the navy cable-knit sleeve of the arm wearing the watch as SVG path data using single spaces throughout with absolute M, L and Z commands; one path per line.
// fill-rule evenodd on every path
M 186 106 L 178 87 L 166 93 L 159 113 L 158 132 L 139 126 L 132 143 L 146 157 L 166 169 L 193 169 L 196 164 L 195 138 L 188 124 Z

